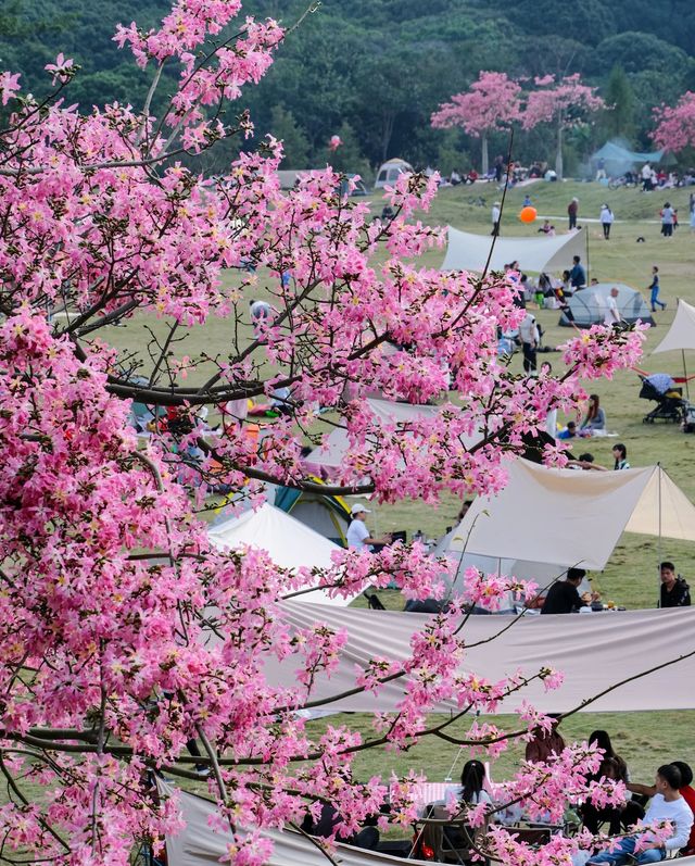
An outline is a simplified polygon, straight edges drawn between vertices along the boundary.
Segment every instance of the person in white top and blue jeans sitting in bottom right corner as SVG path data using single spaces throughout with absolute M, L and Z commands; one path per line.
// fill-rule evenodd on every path
M 693 826 L 693 813 L 679 791 L 682 785 L 681 770 L 674 764 L 664 764 L 656 771 L 655 788 L 657 793 L 652 798 L 649 807 L 644 816 L 644 824 L 656 824 L 668 821 L 671 825 L 671 834 L 664 842 L 643 843 L 646 833 L 635 833 L 627 836 L 618 843 L 615 851 L 604 851 L 594 854 L 587 862 L 587 866 L 598 866 L 607 863 L 611 866 L 622 866 L 627 863 L 659 863 L 666 858 L 670 851 L 678 851 L 687 844 L 687 840 Z M 637 842 L 640 849 L 635 851 Z

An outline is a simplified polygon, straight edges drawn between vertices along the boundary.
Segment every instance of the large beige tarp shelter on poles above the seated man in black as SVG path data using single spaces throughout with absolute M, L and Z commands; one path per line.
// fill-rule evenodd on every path
M 496 497 L 473 501 L 454 550 L 602 569 L 623 531 L 695 541 L 695 506 L 660 466 L 576 472 L 519 459 L 507 472 Z

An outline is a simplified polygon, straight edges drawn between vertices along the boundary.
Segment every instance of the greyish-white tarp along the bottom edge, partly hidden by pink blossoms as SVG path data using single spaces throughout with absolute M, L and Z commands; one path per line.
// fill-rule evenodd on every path
M 162 780 L 157 781 L 161 796 L 172 796 L 176 789 Z M 217 832 L 210 825 L 216 806 L 210 800 L 179 792 L 181 817 L 186 826 L 180 833 L 166 839 L 168 866 L 210 866 L 218 863 L 227 854 L 227 845 L 232 841 L 230 832 Z M 292 830 L 264 830 L 263 834 L 273 842 L 273 853 L 267 866 L 327 866 L 330 861 L 298 832 Z M 341 866 L 397 866 L 403 859 L 381 854 L 377 851 L 353 848 L 338 843 L 333 854 Z M 413 866 L 427 866 L 425 861 L 408 859 Z

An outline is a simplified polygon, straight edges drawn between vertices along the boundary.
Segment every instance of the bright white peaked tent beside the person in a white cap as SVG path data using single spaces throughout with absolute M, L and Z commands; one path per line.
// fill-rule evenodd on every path
M 280 509 L 264 503 L 257 511 L 247 511 L 212 527 L 208 537 L 216 548 L 239 550 L 244 547 L 264 550 L 282 568 L 328 568 L 331 554 L 340 550 Z M 308 592 L 301 600 L 344 606 L 351 599 L 330 598 L 323 591 Z

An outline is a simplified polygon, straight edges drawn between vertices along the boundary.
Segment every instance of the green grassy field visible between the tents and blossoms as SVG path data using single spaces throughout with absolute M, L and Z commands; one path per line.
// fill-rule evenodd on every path
M 693 284 L 695 236 L 691 235 L 687 225 L 688 192 L 685 190 L 642 193 L 635 189 L 621 189 L 610 192 L 597 184 L 545 184 L 539 183 L 523 189 L 508 192 L 502 221 L 504 236 L 534 237 L 536 226 L 525 227 L 517 214 L 526 192 L 529 192 L 539 214 L 553 217 L 558 229 L 566 226 L 566 208 L 569 200 L 577 196 L 580 200 L 580 218 L 597 218 L 601 204 L 607 201 L 612 208 L 617 223 L 612 237 L 605 242 L 601 226 L 589 225 L 591 275 L 599 280 L 624 281 L 637 289 L 644 289 L 649 281 L 653 264 L 657 264 L 661 275 L 661 300 L 668 302 L 664 313 L 657 313 L 657 327 L 649 331 L 645 344 L 645 357 L 642 366 L 649 372 L 682 372 L 680 353 L 649 357 L 650 350 L 661 339 L 671 324 L 678 298 L 695 302 Z M 477 206 L 469 200 L 482 196 L 485 206 Z M 472 188 L 444 189 L 440 192 L 431 213 L 427 217 L 432 223 L 451 224 L 469 231 L 488 234 L 490 231 L 490 205 L 500 193 L 485 185 Z M 683 221 L 682 227 L 672 239 L 662 239 L 659 234 L 658 211 L 670 200 L 679 209 Z M 374 211 L 379 213 L 381 204 L 375 199 Z M 643 236 L 645 243 L 636 243 Z M 426 263 L 438 266 L 443 259 L 442 252 L 431 252 Z M 521 263 L 523 266 L 523 263 Z M 260 288 L 262 291 L 262 287 Z M 569 332 L 558 327 L 558 314 L 553 311 L 540 311 L 538 318 L 545 329 L 545 342 L 558 346 Z M 142 321 L 135 321 L 127 327 L 112 329 L 111 339 L 118 347 L 131 347 L 148 337 Z M 156 331 L 161 324 L 149 322 Z M 160 331 L 161 332 L 161 331 Z M 193 328 L 185 343 L 177 347 L 177 354 L 197 355 L 201 351 L 208 354 L 225 353 L 228 349 L 230 326 L 225 321 L 213 321 L 204 328 Z M 559 355 L 548 354 L 547 359 L 559 364 Z M 520 367 L 517 355 L 513 363 Z M 690 360 L 695 372 L 695 357 Z M 557 367 L 556 367 L 557 372 Z M 643 416 L 652 407 L 637 398 L 639 378 L 634 373 L 621 373 L 612 381 L 599 381 L 592 385 L 602 400 L 608 418 L 608 427 L 619 435 L 619 440 L 597 440 L 584 445 L 581 450 L 590 450 L 598 463 L 611 465 L 610 449 L 616 441 L 627 444 L 630 462 L 633 466 L 646 466 L 661 463 L 669 475 L 681 486 L 688 498 L 695 499 L 695 474 L 692 470 L 695 454 L 695 437 L 683 435 L 671 425 L 647 426 L 642 423 Z M 694 399 L 695 399 L 695 382 Z M 422 507 L 419 502 L 402 502 L 397 505 L 381 506 L 370 515 L 371 528 L 376 532 L 391 529 L 407 529 L 408 534 L 422 529 L 428 536 L 441 535 L 445 527 L 452 525 L 458 511 L 458 503 L 452 498 L 445 499 L 439 509 Z M 587 539 L 587 544 L 591 539 Z M 688 575 L 693 561 L 692 545 L 681 542 L 662 542 L 665 557 L 675 561 L 679 570 Z M 629 607 L 654 606 L 656 599 L 656 563 L 658 561 L 657 539 L 648 536 L 623 535 L 605 572 L 594 575 L 594 585 L 605 598 Z M 400 599 L 389 600 L 390 606 L 400 604 Z M 635 636 L 635 648 L 639 651 L 639 636 Z M 375 649 L 378 649 L 376 647 Z M 351 727 L 367 731 L 370 719 L 366 716 L 339 716 L 330 721 L 348 721 Z M 504 721 L 504 719 L 503 719 Z M 623 754 L 632 769 L 634 779 L 652 778 L 653 769 L 668 760 L 682 758 L 695 762 L 692 746 L 692 728 L 695 713 L 632 713 L 591 714 L 573 716 L 564 725 L 567 739 L 586 737 L 594 728 L 606 728 L 614 737 L 616 748 Z M 320 730 L 326 721 L 312 723 L 312 728 Z M 413 748 L 406 753 L 395 754 L 384 751 L 372 751 L 357 758 L 358 773 L 370 776 L 376 773 L 388 774 L 391 768 L 404 771 L 409 767 L 422 769 L 431 779 L 442 779 L 456 756 L 456 750 L 430 740 Z M 511 750 L 496 763 L 494 778 L 504 778 L 519 758 L 518 750 Z M 458 764 L 460 768 L 460 762 Z

